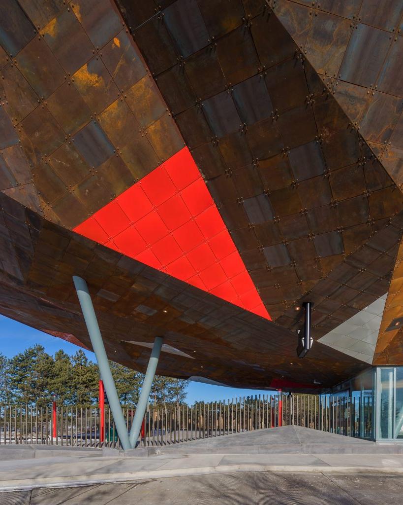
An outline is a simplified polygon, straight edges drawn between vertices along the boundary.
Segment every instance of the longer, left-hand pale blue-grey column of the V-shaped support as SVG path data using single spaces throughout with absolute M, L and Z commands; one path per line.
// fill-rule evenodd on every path
M 120 407 L 119 397 L 117 396 L 115 383 L 110 371 L 108 357 L 106 356 L 105 346 L 102 341 L 102 335 L 99 330 L 97 316 L 95 315 L 94 306 L 87 283 L 81 277 L 73 276 L 74 285 L 79 297 L 81 310 L 85 324 L 87 325 L 88 334 L 90 335 L 92 348 L 95 352 L 95 357 L 98 362 L 101 379 L 104 382 L 106 394 L 108 395 L 109 407 L 112 411 L 113 421 L 115 422 L 116 431 L 120 439 L 120 443 L 124 450 L 130 449 L 129 436 L 127 426 L 124 422 L 122 409 Z

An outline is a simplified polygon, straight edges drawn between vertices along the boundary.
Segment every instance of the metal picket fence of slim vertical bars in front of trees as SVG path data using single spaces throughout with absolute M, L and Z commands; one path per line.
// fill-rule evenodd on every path
M 287 425 L 360 436 L 361 412 L 361 403 L 358 405 L 350 396 L 308 394 L 237 397 L 165 409 L 150 407 L 138 446 L 171 445 Z M 130 430 L 135 408 L 124 407 L 123 414 Z M 108 406 L 102 433 L 100 411 L 95 406 L 58 406 L 53 412 L 51 407 L 34 405 L 0 406 L 0 444 L 24 443 L 119 447 Z

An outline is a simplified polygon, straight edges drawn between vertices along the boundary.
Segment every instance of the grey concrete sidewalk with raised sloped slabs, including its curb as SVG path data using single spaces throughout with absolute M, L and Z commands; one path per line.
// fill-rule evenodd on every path
M 0 489 L 82 486 L 234 472 L 403 474 L 401 445 L 380 445 L 328 435 L 307 428 L 284 427 L 161 447 L 159 454 L 149 457 L 139 456 L 147 453 L 144 450 L 127 453 L 105 450 L 104 456 L 100 450 L 87 450 L 78 455 L 75 450 L 34 460 L 1 460 Z M 229 443 L 231 437 L 232 443 Z M 259 440 L 261 445 L 257 443 Z M 256 451 L 259 447 L 264 449 L 263 453 Z

